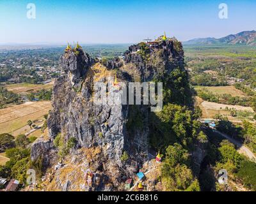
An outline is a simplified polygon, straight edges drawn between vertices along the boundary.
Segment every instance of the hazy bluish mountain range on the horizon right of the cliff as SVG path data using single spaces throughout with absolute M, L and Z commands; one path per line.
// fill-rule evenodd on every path
M 183 45 L 256 45 L 256 31 L 243 31 L 223 38 L 195 38 L 184 41 Z

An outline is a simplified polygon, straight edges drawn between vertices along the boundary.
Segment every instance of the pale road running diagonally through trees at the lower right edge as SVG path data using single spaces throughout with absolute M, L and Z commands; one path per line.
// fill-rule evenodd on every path
M 253 154 L 253 152 L 246 147 L 243 143 L 234 140 L 234 138 L 231 138 L 230 136 L 221 133 L 220 131 L 218 131 L 217 129 L 212 128 L 214 132 L 219 133 L 221 136 L 225 137 L 227 140 L 229 140 L 230 142 L 234 143 L 234 145 L 236 145 L 238 147 L 238 152 L 241 154 L 244 154 L 245 156 L 249 157 L 250 159 L 254 160 L 256 162 L 256 156 L 255 154 Z

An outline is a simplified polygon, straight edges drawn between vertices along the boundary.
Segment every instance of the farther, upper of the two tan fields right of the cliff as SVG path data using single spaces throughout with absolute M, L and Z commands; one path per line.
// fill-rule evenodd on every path
M 231 96 L 246 97 L 246 94 L 244 94 L 243 91 L 236 89 L 232 85 L 220 86 L 220 87 L 195 86 L 196 91 L 204 88 L 207 89 L 208 91 L 211 91 L 213 94 L 231 94 Z

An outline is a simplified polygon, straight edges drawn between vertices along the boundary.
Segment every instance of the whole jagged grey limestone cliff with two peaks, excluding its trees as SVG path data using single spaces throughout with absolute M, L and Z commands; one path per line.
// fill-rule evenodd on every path
M 113 171 L 116 179 L 124 180 L 136 173 L 148 159 L 150 108 L 148 105 L 122 104 L 121 98 L 115 98 L 115 104 L 97 104 L 93 97 L 100 94 L 101 89 L 95 89 L 95 84 L 107 84 L 115 74 L 118 82 L 127 85 L 128 82 L 161 80 L 175 68 L 184 71 L 181 43 L 170 39 L 154 46 L 146 43 L 132 45 L 123 57 L 104 64 L 92 59 L 81 48 L 68 49 L 61 56 L 60 64 L 65 74 L 54 82 L 53 108 L 47 121 L 49 142 L 34 143 L 32 160 L 47 157 L 47 152 L 55 149 L 54 138 L 61 134 L 66 143 L 75 138 L 76 146 L 71 151 L 74 157 L 76 149 L 99 148 L 100 157 L 94 161 L 99 165 L 95 170 L 104 172 L 105 176 Z M 107 92 L 111 96 L 122 90 L 108 86 Z M 124 153 L 129 157 L 124 159 Z M 88 164 L 88 161 L 84 162 Z M 102 163 L 104 167 L 100 167 Z M 113 186 L 118 183 L 113 182 Z

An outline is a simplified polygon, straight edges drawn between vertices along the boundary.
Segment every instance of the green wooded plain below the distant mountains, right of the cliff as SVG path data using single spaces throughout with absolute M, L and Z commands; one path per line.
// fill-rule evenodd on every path
M 212 83 L 216 86 L 218 83 L 214 81 L 230 84 L 228 80 L 235 78 L 238 81 L 243 79 L 243 84 L 252 89 L 256 88 L 256 47 L 190 45 L 184 46 L 184 55 L 193 85 Z M 209 80 L 212 80 L 210 84 Z

